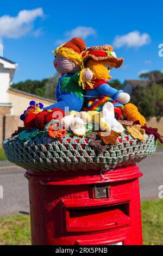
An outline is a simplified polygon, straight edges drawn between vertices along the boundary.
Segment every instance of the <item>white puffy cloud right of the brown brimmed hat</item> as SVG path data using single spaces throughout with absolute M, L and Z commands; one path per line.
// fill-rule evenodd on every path
M 150 41 L 149 34 L 141 34 L 139 31 L 133 31 L 126 35 L 117 35 L 114 39 L 113 46 L 115 48 L 121 48 L 123 46 L 137 48 L 149 44 Z

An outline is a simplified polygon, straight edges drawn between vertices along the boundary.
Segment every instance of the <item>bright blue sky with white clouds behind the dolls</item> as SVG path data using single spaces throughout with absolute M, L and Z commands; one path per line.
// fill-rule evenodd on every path
M 142 70 L 163 71 L 162 14 L 162 1 L 8 0 L 0 8 L 0 41 L 4 57 L 18 63 L 14 82 L 52 76 L 52 50 L 73 35 L 87 46 L 113 44 L 124 64 L 111 76 L 123 82 Z

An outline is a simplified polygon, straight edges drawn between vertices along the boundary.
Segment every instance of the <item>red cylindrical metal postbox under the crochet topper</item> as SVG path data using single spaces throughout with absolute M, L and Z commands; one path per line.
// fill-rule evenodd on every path
M 25 175 L 32 245 L 142 245 L 139 167 Z

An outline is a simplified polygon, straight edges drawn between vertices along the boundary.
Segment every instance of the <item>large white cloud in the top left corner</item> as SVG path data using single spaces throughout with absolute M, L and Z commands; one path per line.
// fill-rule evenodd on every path
M 17 16 L 4 15 L 0 17 L 0 38 L 20 38 L 33 29 L 37 17 L 43 17 L 42 8 L 22 10 Z

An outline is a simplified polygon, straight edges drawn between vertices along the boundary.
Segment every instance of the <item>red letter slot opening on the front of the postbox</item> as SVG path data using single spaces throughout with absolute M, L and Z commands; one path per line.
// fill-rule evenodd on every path
M 66 231 L 89 232 L 129 225 L 129 204 L 98 208 L 67 209 Z

